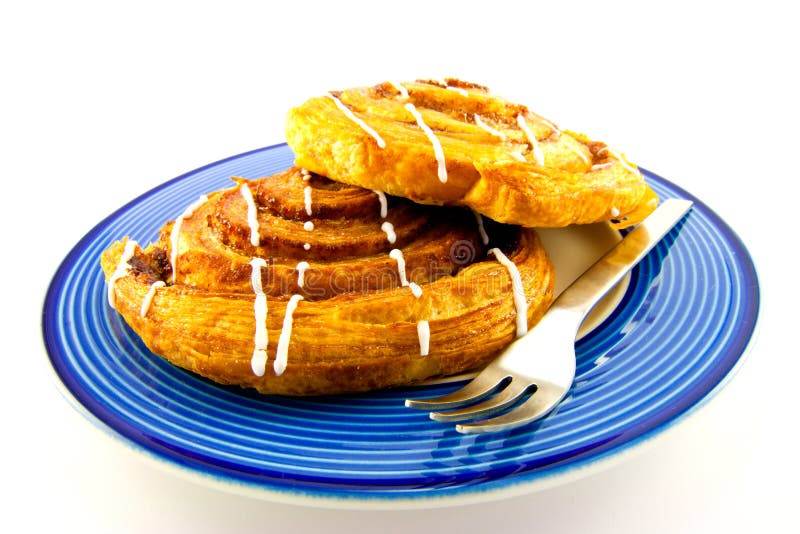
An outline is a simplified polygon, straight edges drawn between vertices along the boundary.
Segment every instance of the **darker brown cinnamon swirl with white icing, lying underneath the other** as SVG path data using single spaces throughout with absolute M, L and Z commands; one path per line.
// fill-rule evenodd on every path
M 535 324 L 553 269 L 534 230 L 300 168 L 194 202 L 102 256 L 156 354 L 223 384 L 316 395 L 480 367 Z

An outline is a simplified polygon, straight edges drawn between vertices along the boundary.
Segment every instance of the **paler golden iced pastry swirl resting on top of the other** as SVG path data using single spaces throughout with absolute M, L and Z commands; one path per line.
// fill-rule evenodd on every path
M 658 202 L 604 143 L 452 78 L 332 91 L 290 110 L 286 135 L 297 165 L 332 180 L 503 223 L 628 226 Z

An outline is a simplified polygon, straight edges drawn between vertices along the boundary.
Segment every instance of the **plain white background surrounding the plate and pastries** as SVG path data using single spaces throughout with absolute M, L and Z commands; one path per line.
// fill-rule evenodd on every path
M 0 8 L 4 523 L 36 532 L 798 532 L 800 42 L 789 3 L 285 4 Z M 94 224 L 165 180 L 282 142 L 286 110 L 306 97 L 444 76 L 609 142 L 732 225 L 757 262 L 763 307 L 758 340 L 719 396 L 602 472 L 413 512 L 318 510 L 207 488 L 128 450 L 64 400 L 41 341 L 42 299 Z

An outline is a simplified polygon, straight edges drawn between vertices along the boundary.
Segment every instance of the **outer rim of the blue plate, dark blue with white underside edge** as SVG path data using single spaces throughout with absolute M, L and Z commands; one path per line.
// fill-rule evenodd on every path
M 750 302 L 753 307 L 753 314 L 751 323 L 752 326 L 749 334 L 744 340 L 742 349 L 736 356 L 734 364 L 728 368 L 722 376 L 720 376 L 719 380 L 713 385 L 713 387 L 702 392 L 694 404 L 688 406 L 683 411 L 672 415 L 670 418 L 660 422 L 645 432 L 634 436 L 628 441 L 620 443 L 613 448 L 604 450 L 595 456 L 578 458 L 563 465 L 545 466 L 541 470 L 529 470 L 522 473 L 515 473 L 513 476 L 503 475 L 497 479 L 489 480 L 485 483 L 458 486 L 455 488 L 441 488 L 441 491 L 437 494 L 420 493 L 415 495 L 392 495 L 384 492 L 359 492 L 355 494 L 347 493 L 345 490 L 327 487 L 318 487 L 311 490 L 300 486 L 274 486 L 266 484 L 264 481 L 257 482 L 253 480 L 246 480 L 243 478 L 226 475 L 221 471 L 204 469 L 197 465 L 182 463 L 176 458 L 167 456 L 156 449 L 148 448 L 144 443 L 140 443 L 131 437 L 124 435 L 118 429 L 104 421 L 98 414 L 94 413 L 89 406 L 81 401 L 79 395 L 74 390 L 75 381 L 65 380 L 65 374 L 68 376 L 69 373 L 65 373 L 64 370 L 60 369 L 60 366 L 54 361 L 54 357 L 51 353 L 54 343 L 52 337 L 54 335 L 53 331 L 57 330 L 57 328 L 52 327 L 52 325 L 49 324 L 53 321 L 50 317 L 48 317 L 47 311 L 48 309 L 52 310 L 57 301 L 57 295 L 59 293 L 59 288 L 61 287 L 59 282 L 63 283 L 63 278 L 65 277 L 65 273 L 69 271 L 70 263 L 73 258 L 80 253 L 85 243 L 91 241 L 95 234 L 105 227 L 108 222 L 113 221 L 120 212 L 124 212 L 130 206 L 139 203 L 141 200 L 147 197 L 157 194 L 160 190 L 206 169 L 213 168 L 226 162 L 237 160 L 255 153 L 282 149 L 286 146 L 286 143 L 275 143 L 222 158 L 162 182 L 126 202 L 124 205 L 112 211 L 109 215 L 96 223 L 70 248 L 69 252 L 65 255 L 63 260 L 56 268 L 56 271 L 53 274 L 45 292 L 41 321 L 42 341 L 44 342 L 45 353 L 47 354 L 49 363 L 48 368 L 52 372 L 53 381 L 61 395 L 71 406 L 73 406 L 73 408 L 75 408 L 82 416 L 84 416 L 86 420 L 92 423 L 92 426 L 103 431 L 103 434 L 106 436 L 114 438 L 114 442 L 124 445 L 129 451 L 138 452 L 138 456 L 147 458 L 151 463 L 154 463 L 158 467 L 164 468 L 165 470 L 176 474 L 181 478 L 191 480 L 195 483 L 206 485 L 211 484 L 218 489 L 235 494 L 262 498 L 273 502 L 338 509 L 439 508 L 444 506 L 499 500 L 527 494 L 583 478 L 587 474 L 594 473 L 601 469 L 612 467 L 613 465 L 621 463 L 627 458 L 630 458 L 631 456 L 644 450 L 647 445 L 656 441 L 656 438 L 662 436 L 667 430 L 694 416 L 713 398 L 715 398 L 718 393 L 730 383 L 730 381 L 736 376 L 738 371 L 744 365 L 749 353 L 751 352 L 751 348 L 758 337 L 762 305 L 759 270 L 754 258 L 750 254 L 741 237 L 724 219 L 722 219 L 702 200 L 698 199 L 681 186 L 674 184 L 673 182 L 652 171 L 640 167 L 641 171 L 646 176 L 650 176 L 656 180 L 664 182 L 676 192 L 683 195 L 685 198 L 691 198 L 695 202 L 696 206 L 701 206 L 704 212 L 711 219 L 713 226 L 727 236 L 729 243 L 736 246 L 737 252 L 740 253 L 740 258 L 742 260 L 740 263 L 743 266 L 749 267 L 748 270 L 752 275 L 753 288 L 751 291 L 754 293 L 755 298 L 752 302 Z M 67 382 L 72 383 L 72 387 Z

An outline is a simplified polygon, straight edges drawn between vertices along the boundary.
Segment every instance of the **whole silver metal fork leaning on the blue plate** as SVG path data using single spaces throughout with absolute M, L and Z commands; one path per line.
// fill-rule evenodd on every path
M 586 315 L 691 206 L 692 202 L 681 199 L 662 202 L 565 289 L 533 329 L 509 345 L 467 385 L 442 397 L 407 399 L 406 406 L 434 410 L 430 417 L 435 421 L 477 420 L 457 424 L 456 430 L 462 434 L 509 430 L 550 413 L 575 379 L 575 337 Z M 497 394 L 491 396 L 493 393 Z M 490 417 L 500 412 L 505 413 Z

